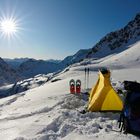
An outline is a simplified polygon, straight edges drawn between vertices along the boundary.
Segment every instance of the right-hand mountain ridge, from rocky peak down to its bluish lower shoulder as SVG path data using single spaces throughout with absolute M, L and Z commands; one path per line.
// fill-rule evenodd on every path
M 140 40 L 140 13 L 124 28 L 111 32 L 103 37 L 91 49 L 79 50 L 76 54 L 66 57 L 62 63 L 70 65 L 84 59 L 99 59 L 113 53 L 119 53 Z

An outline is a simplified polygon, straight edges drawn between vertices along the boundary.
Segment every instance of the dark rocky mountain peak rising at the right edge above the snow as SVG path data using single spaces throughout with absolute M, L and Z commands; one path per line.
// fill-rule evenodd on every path
M 115 51 L 123 51 L 140 37 L 140 13 L 124 28 L 108 33 L 87 54 L 87 58 L 101 58 Z

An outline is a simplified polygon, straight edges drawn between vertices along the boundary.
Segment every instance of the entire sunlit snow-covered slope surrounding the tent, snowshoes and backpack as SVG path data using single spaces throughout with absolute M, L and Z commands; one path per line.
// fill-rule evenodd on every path
M 100 60 L 85 60 L 56 74 L 49 82 L 0 99 L 0 139 L 2 140 L 138 140 L 119 132 L 118 113 L 81 114 L 87 96 L 69 93 L 69 80 L 80 79 L 85 88 L 85 67 L 90 68 L 89 85 L 97 81 L 98 69 L 111 69 L 115 89 L 124 80 L 140 81 L 140 42 L 126 51 Z M 50 76 L 52 76 L 50 74 Z M 31 84 L 31 79 L 30 79 Z M 32 87 L 32 86 L 31 86 Z

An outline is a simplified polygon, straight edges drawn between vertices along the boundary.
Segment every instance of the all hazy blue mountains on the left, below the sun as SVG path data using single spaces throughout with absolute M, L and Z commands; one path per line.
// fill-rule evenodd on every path
M 35 60 L 31 58 L 0 58 L 0 86 L 16 83 L 19 80 L 38 74 L 53 73 L 64 66 L 59 60 Z

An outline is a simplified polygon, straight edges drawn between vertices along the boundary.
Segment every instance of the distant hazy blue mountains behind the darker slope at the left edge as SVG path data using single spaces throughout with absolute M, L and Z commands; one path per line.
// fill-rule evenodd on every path
M 56 72 L 64 68 L 61 60 L 36 60 L 31 58 L 4 58 L 4 61 L 12 68 L 16 73 L 22 75 L 22 79 L 31 78 L 38 74 L 48 74 Z

